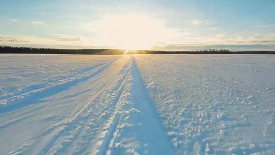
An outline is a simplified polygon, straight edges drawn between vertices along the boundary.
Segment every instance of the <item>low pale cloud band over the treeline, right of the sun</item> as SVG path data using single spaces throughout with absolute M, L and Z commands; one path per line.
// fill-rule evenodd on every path
M 158 42 L 151 49 L 155 50 L 198 50 L 226 48 L 230 50 L 275 50 L 275 33 L 230 34 L 210 33 L 185 34 L 178 41 Z

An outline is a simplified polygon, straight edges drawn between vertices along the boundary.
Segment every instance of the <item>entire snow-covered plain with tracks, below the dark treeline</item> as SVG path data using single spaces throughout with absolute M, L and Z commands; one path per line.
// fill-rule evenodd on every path
M 0 55 L 0 154 L 274 154 L 275 55 Z

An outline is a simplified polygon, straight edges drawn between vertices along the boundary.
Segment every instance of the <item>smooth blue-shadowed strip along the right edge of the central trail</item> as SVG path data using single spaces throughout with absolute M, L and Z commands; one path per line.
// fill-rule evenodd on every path
M 162 125 L 162 121 L 156 112 L 154 103 L 148 95 L 142 76 L 139 69 L 137 69 L 134 59 L 132 66 L 132 99 L 134 104 L 137 105 L 137 108 L 139 108 L 137 109 L 140 111 L 139 114 L 142 115 L 142 120 L 140 121 L 144 123 L 144 127 L 147 127 L 147 132 L 151 135 L 150 142 L 153 143 L 153 154 L 175 154 L 175 148 L 171 139 L 167 135 L 166 128 Z

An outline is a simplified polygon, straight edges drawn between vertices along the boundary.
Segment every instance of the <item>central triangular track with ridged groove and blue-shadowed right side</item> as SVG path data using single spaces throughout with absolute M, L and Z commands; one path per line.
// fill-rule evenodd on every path
M 175 154 L 166 129 L 147 95 L 134 58 L 116 111 L 108 122 L 95 154 Z

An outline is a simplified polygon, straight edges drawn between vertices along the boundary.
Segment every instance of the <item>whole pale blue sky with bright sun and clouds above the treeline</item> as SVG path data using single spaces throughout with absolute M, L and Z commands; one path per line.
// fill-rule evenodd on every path
M 274 0 L 0 0 L 0 45 L 275 50 Z

